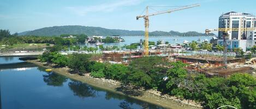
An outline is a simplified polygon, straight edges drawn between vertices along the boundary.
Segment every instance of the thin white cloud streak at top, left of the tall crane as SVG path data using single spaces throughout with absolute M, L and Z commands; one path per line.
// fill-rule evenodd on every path
M 92 5 L 89 7 L 67 7 L 78 15 L 86 15 L 88 12 L 111 12 L 120 7 L 126 7 L 129 5 L 137 5 L 140 4 L 141 0 L 119 0 L 117 2 L 112 3 L 103 3 L 99 5 Z

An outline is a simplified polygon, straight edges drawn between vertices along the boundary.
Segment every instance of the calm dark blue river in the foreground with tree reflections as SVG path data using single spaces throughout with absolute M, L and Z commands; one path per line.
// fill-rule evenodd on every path
M 2 109 L 162 108 L 5 58 L 0 57 L 8 63 L 0 65 Z

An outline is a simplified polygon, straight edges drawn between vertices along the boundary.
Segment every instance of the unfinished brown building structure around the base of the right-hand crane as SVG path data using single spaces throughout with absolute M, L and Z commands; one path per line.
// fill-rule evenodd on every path
M 210 55 L 191 55 L 178 56 L 177 60 L 188 63 L 188 72 L 203 73 L 206 76 L 223 76 L 227 77 L 234 73 L 252 72 L 252 67 L 239 66 L 240 63 L 245 63 L 244 58 L 228 57 L 229 63 L 227 68 L 223 67 L 223 57 Z M 233 64 L 233 66 L 231 66 Z

